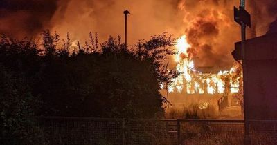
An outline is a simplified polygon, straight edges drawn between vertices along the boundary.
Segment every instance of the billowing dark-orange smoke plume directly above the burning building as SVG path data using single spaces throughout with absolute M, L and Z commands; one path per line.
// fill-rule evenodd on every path
M 232 65 L 231 50 L 240 37 L 240 29 L 233 22 L 234 5 L 223 0 L 184 0 L 179 4 L 185 14 L 185 34 L 195 66 L 222 69 Z

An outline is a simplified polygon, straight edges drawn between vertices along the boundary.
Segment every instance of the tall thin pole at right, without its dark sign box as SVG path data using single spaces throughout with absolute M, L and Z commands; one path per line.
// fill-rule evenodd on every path
M 240 0 L 240 8 L 245 10 L 245 0 Z M 246 24 L 242 22 L 241 24 L 241 31 L 242 31 L 242 73 L 243 73 L 243 111 L 244 111 L 244 144 L 251 144 L 250 137 L 249 137 L 249 120 L 247 115 L 247 57 L 246 57 Z

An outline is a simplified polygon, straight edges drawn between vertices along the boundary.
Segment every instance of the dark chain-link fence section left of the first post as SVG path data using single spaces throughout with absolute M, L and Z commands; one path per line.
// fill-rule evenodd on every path
M 39 117 L 50 144 L 122 144 L 124 119 Z

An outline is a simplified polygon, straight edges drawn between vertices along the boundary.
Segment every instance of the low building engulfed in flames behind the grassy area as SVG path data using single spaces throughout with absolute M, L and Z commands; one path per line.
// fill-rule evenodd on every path
M 191 45 L 186 35 L 177 40 L 174 56 L 176 69 L 181 73 L 170 84 L 167 91 L 173 104 L 193 100 L 198 104 L 214 104 L 223 110 L 229 105 L 240 106 L 242 94 L 242 67 L 238 62 L 229 70 L 215 72 L 213 67 L 196 67 Z

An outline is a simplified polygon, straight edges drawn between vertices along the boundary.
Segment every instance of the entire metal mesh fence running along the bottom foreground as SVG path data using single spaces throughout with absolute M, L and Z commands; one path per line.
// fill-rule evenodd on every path
M 51 144 L 243 144 L 243 120 L 39 117 Z M 250 121 L 251 144 L 277 144 L 277 121 Z

